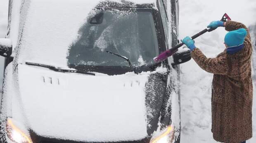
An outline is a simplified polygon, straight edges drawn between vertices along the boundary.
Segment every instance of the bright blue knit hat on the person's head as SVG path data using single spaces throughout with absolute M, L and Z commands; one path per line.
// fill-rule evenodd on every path
M 229 47 L 231 46 L 238 46 L 244 43 L 244 38 L 247 35 L 247 31 L 244 28 L 230 31 L 225 36 L 225 44 Z

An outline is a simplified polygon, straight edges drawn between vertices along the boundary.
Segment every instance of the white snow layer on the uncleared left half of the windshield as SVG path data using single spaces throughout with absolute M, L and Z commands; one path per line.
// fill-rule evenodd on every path
M 99 0 L 31 0 L 22 32 L 18 62 L 30 61 L 68 68 L 66 57 L 69 47 L 76 42 L 79 29 L 98 4 Z M 104 43 L 97 42 L 97 46 L 104 48 Z M 134 61 L 139 60 L 139 57 L 140 55 Z

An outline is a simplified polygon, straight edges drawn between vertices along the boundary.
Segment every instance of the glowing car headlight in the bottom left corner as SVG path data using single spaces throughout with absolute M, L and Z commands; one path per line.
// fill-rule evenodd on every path
M 8 138 L 15 143 L 33 143 L 31 138 L 16 127 L 10 118 L 6 121 L 6 133 Z

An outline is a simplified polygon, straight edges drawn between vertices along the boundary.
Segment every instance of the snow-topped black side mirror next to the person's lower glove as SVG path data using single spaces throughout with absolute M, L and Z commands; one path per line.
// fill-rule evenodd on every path
M 171 65 L 180 65 L 189 60 L 191 60 L 191 51 L 188 48 L 183 48 L 181 51 L 173 54 L 173 63 Z

